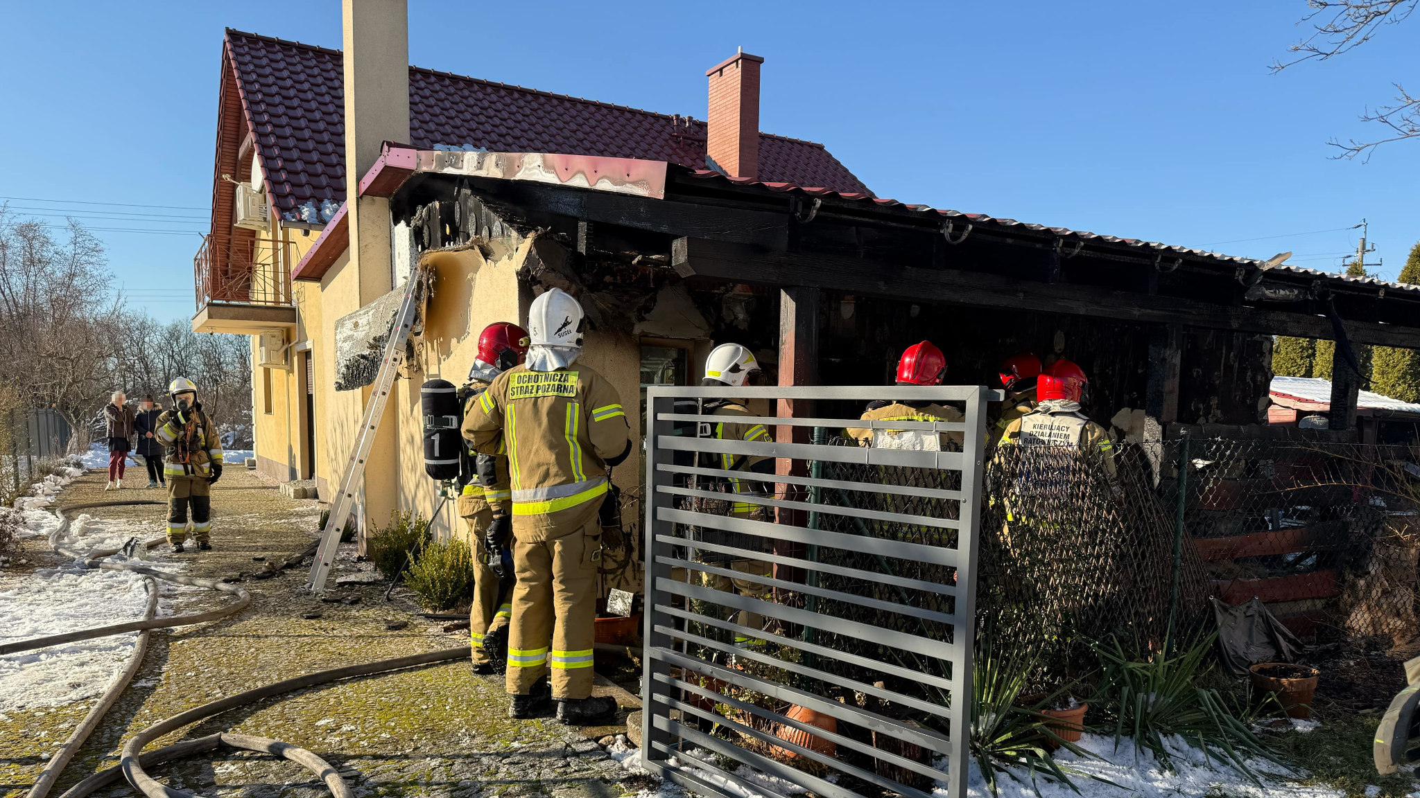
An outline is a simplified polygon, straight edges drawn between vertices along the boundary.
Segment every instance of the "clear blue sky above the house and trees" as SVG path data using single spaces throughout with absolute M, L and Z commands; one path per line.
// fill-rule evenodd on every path
M 1420 18 L 1271 75 L 1306 33 L 1301 0 L 805 7 L 410 0 L 409 54 L 704 118 L 704 70 L 743 45 L 765 58 L 763 129 L 824 142 L 880 196 L 1326 270 L 1366 217 L 1386 277 L 1420 239 L 1420 141 L 1369 163 L 1326 146 L 1373 135 L 1356 115 L 1392 82 L 1420 85 Z M 222 30 L 339 47 L 339 3 L 13 3 L 4 20 L 0 196 L 114 229 L 97 234 L 132 302 L 190 315 Z

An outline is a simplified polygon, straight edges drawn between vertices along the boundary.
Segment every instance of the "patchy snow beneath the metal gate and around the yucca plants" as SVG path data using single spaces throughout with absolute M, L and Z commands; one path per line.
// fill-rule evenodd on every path
M 1301 731 L 1301 730 L 1299 730 Z M 1115 747 L 1113 737 L 1085 734 L 1081 747 L 1099 758 L 1086 758 L 1058 751 L 1055 761 L 1064 767 L 1082 771 L 1085 774 L 1109 780 L 1118 787 L 1096 781 L 1088 775 L 1074 775 L 1072 781 L 1079 788 L 1076 794 L 1069 787 L 1048 782 L 1037 778 L 1031 782 L 1031 775 L 1024 768 L 1015 768 L 1010 774 L 997 775 L 997 787 L 1001 798 L 1203 798 L 1204 795 L 1228 795 L 1238 798 L 1340 798 L 1345 791 L 1329 787 L 1306 787 L 1292 781 L 1292 775 L 1285 768 L 1265 761 L 1250 761 L 1248 765 L 1258 774 L 1261 785 L 1254 784 L 1247 775 L 1224 765 L 1217 757 L 1208 761 L 1203 751 L 1187 745 L 1181 737 L 1169 741 L 1173 754 L 1176 772 L 1164 772 L 1153 754 L 1147 750 L 1137 750 L 1130 740 L 1120 740 Z M 625 736 L 618 736 L 606 753 L 630 772 L 645 772 L 640 767 L 640 750 L 632 748 Z M 694 768 L 693 761 L 709 761 L 701 751 L 692 750 L 684 755 L 684 764 Z M 674 761 L 674 760 L 672 760 Z M 763 798 L 757 792 L 731 784 L 723 777 L 694 768 L 697 777 L 716 784 L 731 795 L 741 798 Z M 764 775 L 740 765 L 736 775 L 761 784 L 781 795 L 801 794 L 802 788 Z M 968 770 L 967 795 L 970 798 L 991 798 L 985 778 L 973 760 Z M 1037 792 L 1037 789 L 1039 792 Z M 639 798 L 682 798 L 684 791 L 670 782 L 663 782 L 659 789 L 645 789 Z M 947 787 L 937 782 L 933 795 L 946 798 Z

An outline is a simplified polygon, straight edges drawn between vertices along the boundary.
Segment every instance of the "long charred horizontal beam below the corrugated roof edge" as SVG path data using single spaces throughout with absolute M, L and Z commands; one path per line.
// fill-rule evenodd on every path
M 672 266 L 680 274 L 737 283 L 805 285 L 875 297 L 1021 308 L 1299 338 L 1335 337 L 1331 321 L 1325 317 L 1224 307 L 1181 297 L 1116 291 L 1095 285 L 1051 285 L 980 271 L 929 270 L 851 257 L 765 251 L 758 247 L 694 237 L 677 241 L 672 247 Z M 1346 327 L 1348 335 L 1358 344 L 1420 349 L 1420 328 L 1363 324 Z

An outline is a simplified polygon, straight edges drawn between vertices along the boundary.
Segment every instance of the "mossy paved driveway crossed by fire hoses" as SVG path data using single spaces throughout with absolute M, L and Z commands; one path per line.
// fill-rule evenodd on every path
M 58 504 L 163 498 L 159 490 L 105 493 L 104 484 L 102 473 L 85 474 L 60 494 Z M 165 508 L 156 505 L 89 513 L 151 523 L 153 535 L 162 532 L 165 521 Z M 308 545 L 317 520 L 314 500 L 284 498 L 275 483 L 257 473 L 227 469 L 213 490 L 214 550 L 162 554 L 155 565 L 185 562 L 185 574 L 209 578 L 244 574 L 241 585 L 251 592 L 251 605 L 214 623 L 155 632 L 133 684 L 51 795 L 116 764 L 122 741 L 135 731 L 193 706 L 314 670 L 467 645 L 466 632 L 444 633 L 442 622 L 420 618 L 408 594 L 396 591 L 386 603 L 383 582 L 341 585 L 332 592 L 358 601 L 328 603 L 301 591 L 305 567 L 274 576 L 261 574 L 267 562 L 280 562 Z M 58 561 L 43 538 L 26 545 L 26 568 Z M 342 557 L 332 582 L 356 568 Z M 173 613 L 230 601 L 197 588 L 180 588 L 170 596 Z M 312 613 L 320 616 L 302 618 Z M 408 625 L 389 629 L 400 622 Z M 20 798 L 28 791 L 44 758 L 89 706 L 92 700 L 11 711 L 9 720 L 0 721 L 0 798 Z M 551 718 L 515 721 L 506 713 L 503 679 L 476 676 L 467 660 L 457 660 L 288 693 L 179 730 L 155 745 L 222 730 L 274 737 L 325 757 L 359 797 L 569 798 L 635 792 L 618 784 L 625 771 L 595 743 L 615 728 L 571 730 Z M 158 767 L 153 774 L 178 789 L 209 797 L 327 794 L 311 774 L 284 760 L 230 748 L 207 757 Z M 125 782 L 99 792 L 133 794 Z

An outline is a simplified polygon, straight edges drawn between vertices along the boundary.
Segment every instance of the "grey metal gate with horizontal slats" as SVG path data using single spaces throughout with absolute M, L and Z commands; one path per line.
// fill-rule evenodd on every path
M 714 415 L 730 398 L 828 417 Z M 858 420 L 875 399 L 956 406 L 964 422 Z M 648 389 L 646 768 L 706 795 L 932 798 L 941 781 L 966 797 L 985 403 L 1000 399 Z M 791 426 L 812 443 L 774 440 Z

